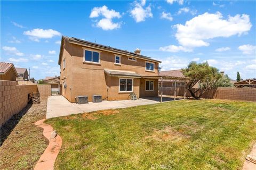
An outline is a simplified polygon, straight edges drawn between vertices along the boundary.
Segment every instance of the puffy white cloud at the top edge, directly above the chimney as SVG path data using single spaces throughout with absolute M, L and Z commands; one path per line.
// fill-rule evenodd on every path
M 146 1 L 142 1 L 141 3 L 138 3 L 137 1 L 134 2 L 134 8 L 130 13 L 136 22 L 142 22 L 145 21 L 146 18 L 153 17 L 150 5 L 144 8 L 143 6 L 145 6 L 145 4 Z

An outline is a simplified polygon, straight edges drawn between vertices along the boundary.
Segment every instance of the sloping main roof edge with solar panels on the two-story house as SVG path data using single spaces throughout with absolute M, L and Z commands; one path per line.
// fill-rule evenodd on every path
M 79 45 L 83 45 L 83 46 L 95 47 L 95 48 L 99 48 L 99 49 L 102 49 L 102 50 L 110 50 L 113 53 L 119 53 L 119 54 L 128 55 L 128 56 L 132 56 L 132 57 L 142 58 L 142 59 L 148 60 L 148 61 L 153 61 L 153 62 L 161 63 L 161 61 L 154 60 L 154 59 L 152 59 L 150 57 L 147 57 L 147 56 L 144 56 L 144 55 L 135 54 L 135 53 L 129 52 L 127 50 L 113 48 L 113 47 L 110 47 L 110 46 L 100 45 L 100 44 L 96 44 L 96 43 L 91 43 L 89 41 L 85 41 L 85 40 L 74 38 L 74 37 L 70 38 L 70 37 L 62 36 L 62 38 L 61 38 L 61 45 L 60 45 L 59 64 L 61 63 L 63 39 L 66 39 L 66 40 L 69 41 L 69 43 L 73 43 L 73 44 L 79 44 Z

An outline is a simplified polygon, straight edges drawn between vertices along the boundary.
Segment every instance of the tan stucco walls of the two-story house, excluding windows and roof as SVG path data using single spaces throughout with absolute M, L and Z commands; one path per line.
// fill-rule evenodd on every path
M 128 56 L 122 55 L 121 65 L 115 65 L 114 53 L 105 51 L 100 53 L 100 65 L 83 63 L 82 46 L 69 44 L 64 39 L 64 47 L 61 60 L 60 83 L 62 84 L 66 77 L 67 89 L 64 91 L 62 86 L 62 95 L 71 102 L 75 102 L 75 98 L 80 95 L 87 95 L 89 101 L 92 100 L 92 95 L 102 95 L 102 99 L 108 95 L 109 100 L 129 99 L 130 92 L 118 93 L 119 78 L 109 77 L 109 75 L 104 73 L 104 69 L 135 71 L 140 75 L 158 75 L 158 63 L 155 63 L 154 72 L 148 72 L 145 71 L 145 60 L 137 58 L 137 62 L 129 61 Z M 63 58 L 66 58 L 65 70 L 62 69 Z M 134 78 L 133 90 L 138 97 L 140 95 L 140 83 L 140 79 Z M 157 95 L 157 83 L 155 83 L 155 86 L 155 93 L 149 92 L 143 95 Z

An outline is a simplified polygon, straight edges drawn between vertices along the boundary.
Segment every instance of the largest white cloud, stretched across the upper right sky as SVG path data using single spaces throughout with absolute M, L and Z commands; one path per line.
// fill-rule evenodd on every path
M 220 12 L 204 13 L 186 21 L 185 25 L 176 24 L 175 38 L 182 47 L 193 49 L 194 47 L 209 46 L 209 39 L 217 37 L 241 36 L 252 27 L 249 15 L 228 16 L 222 19 Z M 176 46 L 177 47 L 177 46 Z M 191 50 L 188 50 L 190 52 Z

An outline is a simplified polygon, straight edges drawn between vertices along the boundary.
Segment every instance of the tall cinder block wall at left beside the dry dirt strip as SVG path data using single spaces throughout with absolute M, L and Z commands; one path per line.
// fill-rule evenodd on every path
M 0 126 L 27 106 L 31 92 L 37 92 L 36 85 L 17 85 L 16 81 L 1 80 Z

